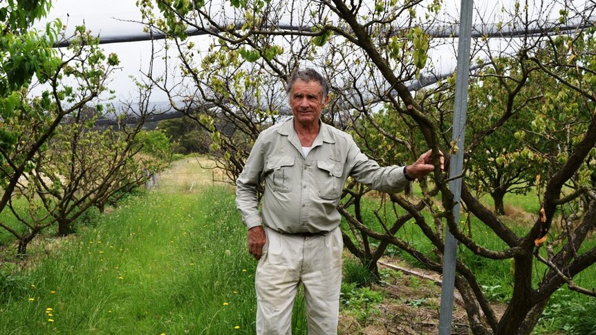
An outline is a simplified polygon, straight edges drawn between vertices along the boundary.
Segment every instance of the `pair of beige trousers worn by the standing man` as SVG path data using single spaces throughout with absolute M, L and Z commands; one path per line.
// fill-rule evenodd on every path
M 257 265 L 257 334 L 292 334 L 292 306 L 304 285 L 308 334 L 337 334 L 342 284 L 342 232 L 284 235 L 265 228 L 267 242 Z

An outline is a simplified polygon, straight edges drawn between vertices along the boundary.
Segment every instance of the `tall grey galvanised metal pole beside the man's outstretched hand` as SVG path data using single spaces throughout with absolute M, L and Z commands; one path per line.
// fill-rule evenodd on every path
M 461 175 L 463 153 L 465 149 L 465 116 L 467 112 L 467 86 L 469 78 L 469 49 L 472 42 L 473 0 L 461 0 L 459 41 L 457 50 L 457 71 L 455 88 L 455 110 L 451 141 L 458 150 L 451 156 L 449 178 Z M 459 222 L 462 178 L 452 179 L 449 190 L 454 193 L 454 217 Z M 451 334 L 453 318 L 453 295 L 455 283 L 457 240 L 445 229 L 445 251 L 443 251 L 443 286 L 441 287 L 441 305 L 439 315 L 439 335 Z

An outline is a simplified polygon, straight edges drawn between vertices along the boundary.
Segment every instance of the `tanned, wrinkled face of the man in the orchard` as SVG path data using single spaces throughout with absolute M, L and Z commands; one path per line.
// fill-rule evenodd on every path
M 319 82 L 297 80 L 290 92 L 290 106 L 295 121 L 303 126 L 317 124 L 328 100 L 329 96 L 326 96 L 323 100 Z

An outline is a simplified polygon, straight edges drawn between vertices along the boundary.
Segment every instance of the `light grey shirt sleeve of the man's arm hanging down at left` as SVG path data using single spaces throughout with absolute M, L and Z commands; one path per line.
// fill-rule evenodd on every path
M 248 155 L 242 173 L 236 180 L 236 208 L 240 211 L 242 222 L 247 229 L 261 225 L 257 187 L 261 182 L 264 166 L 262 142 L 259 136 Z

